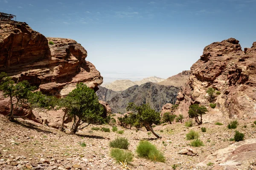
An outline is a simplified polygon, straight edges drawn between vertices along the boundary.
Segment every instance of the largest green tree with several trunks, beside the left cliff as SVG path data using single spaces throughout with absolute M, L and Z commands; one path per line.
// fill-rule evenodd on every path
M 79 126 L 87 123 L 84 127 L 90 124 L 103 123 L 104 108 L 99 103 L 95 92 L 88 88 L 84 83 L 79 83 L 76 88 L 71 91 L 66 97 L 68 100 L 73 100 L 73 105 L 70 108 L 69 114 L 73 116 L 73 126 L 71 131 L 76 133 Z M 81 127 L 80 129 L 83 129 Z

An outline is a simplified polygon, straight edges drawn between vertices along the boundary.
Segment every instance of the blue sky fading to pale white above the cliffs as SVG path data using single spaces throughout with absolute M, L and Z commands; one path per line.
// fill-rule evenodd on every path
M 206 45 L 256 41 L 256 0 L 0 0 L 46 37 L 71 38 L 106 82 L 189 70 Z

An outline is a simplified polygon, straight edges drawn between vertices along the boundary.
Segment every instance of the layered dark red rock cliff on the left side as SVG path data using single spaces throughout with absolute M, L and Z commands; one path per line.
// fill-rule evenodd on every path
M 26 23 L 0 21 L 0 71 L 16 81 L 28 80 L 44 94 L 66 96 L 77 82 L 98 90 L 103 78 L 86 57 L 74 40 L 46 38 Z

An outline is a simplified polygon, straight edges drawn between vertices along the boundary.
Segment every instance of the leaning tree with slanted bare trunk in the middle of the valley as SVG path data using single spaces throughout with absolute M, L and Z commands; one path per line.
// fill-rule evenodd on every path
M 136 118 L 138 121 L 141 122 L 146 129 L 150 130 L 157 138 L 161 138 L 152 128 L 153 124 L 158 125 L 160 123 L 160 113 L 151 109 L 148 104 L 137 106 L 134 103 L 129 103 L 126 110 L 133 111 L 134 114 L 137 115 Z

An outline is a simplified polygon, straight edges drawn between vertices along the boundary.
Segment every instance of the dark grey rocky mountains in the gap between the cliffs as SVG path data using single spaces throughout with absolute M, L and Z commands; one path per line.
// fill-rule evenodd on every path
M 156 111 L 160 111 L 166 103 L 174 103 L 180 88 L 174 86 L 158 85 L 147 82 L 143 85 L 134 85 L 125 91 L 112 91 L 99 86 L 96 94 L 100 100 L 109 104 L 112 113 L 126 113 L 126 107 L 129 102 L 137 105 L 149 103 Z

